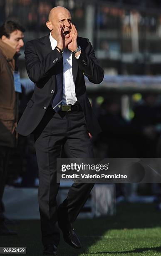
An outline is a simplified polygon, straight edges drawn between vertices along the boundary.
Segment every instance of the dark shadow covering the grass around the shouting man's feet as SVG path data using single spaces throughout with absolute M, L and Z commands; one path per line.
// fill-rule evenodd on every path
M 161 213 L 155 210 L 152 204 L 120 204 L 117 207 L 116 216 L 107 216 L 103 218 L 81 219 L 74 224 L 74 229 L 82 242 L 82 249 L 75 250 L 64 243 L 63 238 L 58 247 L 59 256 L 79 256 L 80 254 L 116 254 L 124 255 L 128 253 L 141 253 L 144 251 L 161 252 L 161 247 L 136 248 L 134 250 L 122 251 L 124 248 L 115 248 L 115 252 L 107 251 L 104 248 L 96 246 L 94 253 L 90 252 L 90 247 L 97 244 L 102 237 L 107 236 L 108 230 L 123 230 L 137 228 L 155 228 L 161 227 Z M 0 236 L 0 247 L 27 247 L 27 255 L 42 255 L 43 246 L 41 243 L 41 231 L 39 220 L 20 221 L 18 225 L 9 226 L 10 229 L 16 230 L 18 236 Z M 111 240 L 111 246 L 112 246 Z M 104 242 L 106 243 L 106 241 Z M 93 251 L 93 248 L 92 248 Z M 98 251 L 98 252 L 97 252 Z M 19 254 L 17 254 L 19 255 Z

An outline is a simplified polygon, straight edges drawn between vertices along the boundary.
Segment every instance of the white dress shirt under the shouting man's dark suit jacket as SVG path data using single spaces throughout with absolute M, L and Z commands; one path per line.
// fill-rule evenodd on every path
M 57 46 L 57 41 L 52 37 L 50 33 L 50 43 L 52 50 Z M 63 98 L 62 105 L 69 105 L 77 101 L 75 94 L 75 84 L 72 74 L 72 54 L 68 49 L 65 49 L 63 54 Z M 80 56 L 80 55 L 79 55 Z M 79 58 L 79 56 L 77 58 Z

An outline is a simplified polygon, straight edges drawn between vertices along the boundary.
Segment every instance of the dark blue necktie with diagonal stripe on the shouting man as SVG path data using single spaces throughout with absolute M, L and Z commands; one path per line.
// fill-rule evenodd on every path
M 52 102 L 52 108 L 56 113 L 61 110 L 62 105 L 62 95 L 63 95 L 63 73 L 59 73 L 56 75 L 57 81 L 57 93 Z

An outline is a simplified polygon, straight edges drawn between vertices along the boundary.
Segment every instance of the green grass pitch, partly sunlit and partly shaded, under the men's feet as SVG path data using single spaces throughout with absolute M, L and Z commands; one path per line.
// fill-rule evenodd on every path
M 39 221 L 20 221 L 10 228 L 18 236 L 0 236 L 0 246 L 25 246 L 28 256 L 42 255 Z M 161 255 L 161 212 L 153 204 L 121 203 L 116 216 L 77 220 L 74 228 L 83 248 L 75 250 L 61 237 L 58 256 Z

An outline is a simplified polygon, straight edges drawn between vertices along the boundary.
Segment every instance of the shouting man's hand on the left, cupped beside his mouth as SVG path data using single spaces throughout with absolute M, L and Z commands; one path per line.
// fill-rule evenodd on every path
M 57 31 L 57 47 L 59 49 L 63 50 L 64 48 L 67 47 L 67 45 L 72 41 L 72 37 L 69 37 L 65 40 L 63 36 L 63 31 L 64 31 L 65 25 L 59 25 L 58 31 Z

